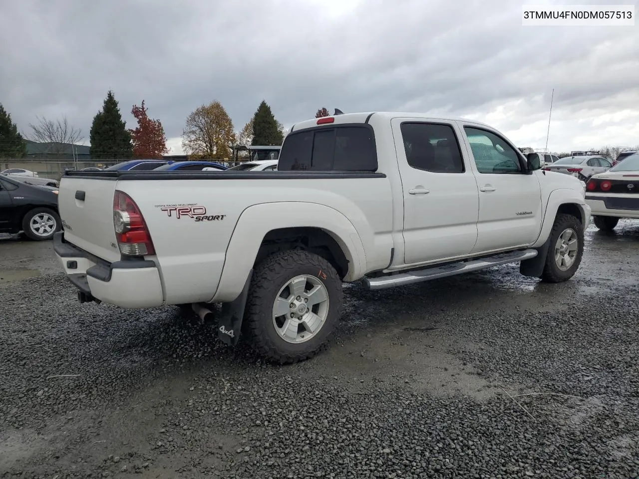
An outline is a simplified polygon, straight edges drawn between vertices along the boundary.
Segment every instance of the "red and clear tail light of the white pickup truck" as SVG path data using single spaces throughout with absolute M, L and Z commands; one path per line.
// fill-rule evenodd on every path
M 127 256 L 155 254 L 153 241 L 140 209 L 129 195 L 118 190 L 113 195 L 113 227 L 121 254 Z

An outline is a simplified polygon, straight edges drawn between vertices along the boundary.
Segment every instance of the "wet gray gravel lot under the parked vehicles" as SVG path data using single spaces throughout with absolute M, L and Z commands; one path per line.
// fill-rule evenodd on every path
M 565 284 L 347 285 L 335 344 L 277 367 L 0 239 L 0 478 L 638 477 L 638 259 L 626 220 Z

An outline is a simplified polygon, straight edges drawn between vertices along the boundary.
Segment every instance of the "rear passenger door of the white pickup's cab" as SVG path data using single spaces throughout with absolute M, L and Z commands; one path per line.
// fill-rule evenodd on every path
M 479 198 L 454 122 L 392 120 L 404 201 L 404 262 L 469 254 L 477 240 Z

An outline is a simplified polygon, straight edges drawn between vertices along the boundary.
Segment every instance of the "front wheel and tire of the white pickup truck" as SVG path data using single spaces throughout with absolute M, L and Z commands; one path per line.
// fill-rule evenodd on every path
M 550 232 L 550 247 L 541 279 L 550 283 L 569 280 L 583 255 L 583 227 L 572 215 L 559 214 Z

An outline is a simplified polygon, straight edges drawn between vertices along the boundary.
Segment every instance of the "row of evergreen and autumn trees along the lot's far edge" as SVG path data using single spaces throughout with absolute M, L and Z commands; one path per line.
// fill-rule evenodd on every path
M 131 114 L 137 121 L 133 129 L 127 128 L 118 101 L 109 90 L 89 130 L 92 159 L 160 158 L 169 152 L 164 127 L 160 120 L 150 118 L 144 100 L 141 105 L 133 105 Z M 84 139 L 82 131 L 69 125 L 66 117 L 55 121 L 36 118 L 35 124 L 29 123 L 29 135 L 20 133 L 0 103 L 0 158 L 24 158 L 26 140 L 47 144 L 47 155 L 56 157 L 65 153 L 68 144 Z M 237 132 L 222 103 L 215 100 L 187 116 L 181 138 L 182 148 L 191 158 L 224 159 L 231 157 L 235 145 L 281 145 L 285 134 L 284 125 L 275 119 L 265 101 Z

